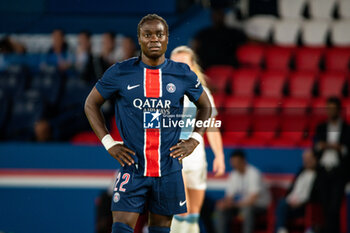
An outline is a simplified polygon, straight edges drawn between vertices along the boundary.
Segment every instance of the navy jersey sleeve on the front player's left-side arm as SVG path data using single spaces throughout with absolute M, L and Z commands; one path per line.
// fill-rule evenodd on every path
M 118 65 L 114 64 L 103 74 L 96 83 L 96 89 L 104 99 L 109 99 L 119 89 Z

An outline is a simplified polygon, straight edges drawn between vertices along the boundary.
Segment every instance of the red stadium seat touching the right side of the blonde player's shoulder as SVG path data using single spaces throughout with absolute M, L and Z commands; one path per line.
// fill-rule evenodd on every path
M 232 76 L 233 68 L 226 65 L 216 65 L 209 67 L 205 74 L 208 79 L 208 86 L 213 93 L 224 93 L 228 81 Z

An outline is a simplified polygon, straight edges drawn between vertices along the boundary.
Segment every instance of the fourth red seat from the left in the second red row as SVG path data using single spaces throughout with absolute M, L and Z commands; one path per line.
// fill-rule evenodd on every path
M 293 72 L 289 76 L 289 95 L 291 97 L 310 98 L 316 80 L 314 72 Z

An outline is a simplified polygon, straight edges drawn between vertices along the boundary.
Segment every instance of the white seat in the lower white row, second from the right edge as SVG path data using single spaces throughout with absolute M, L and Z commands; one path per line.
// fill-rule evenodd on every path
M 304 21 L 301 29 L 301 41 L 304 46 L 325 46 L 330 22 L 327 20 Z

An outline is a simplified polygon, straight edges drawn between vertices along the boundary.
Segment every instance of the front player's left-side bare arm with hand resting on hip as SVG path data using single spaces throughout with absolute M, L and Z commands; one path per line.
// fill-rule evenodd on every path
M 108 134 L 105 119 L 101 112 L 101 106 L 105 102 L 105 99 L 101 96 L 98 90 L 94 87 L 85 101 L 85 114 L 89 120 L 91 128 L 94 130 L 96 136 L 102 140 L 102 138 Z M 118 162 L 124 166 L 125 164 L 131 165 L 134 160 L 130 154 L 135 155 L 135 152 L 127 148 L 124 144 L 117 144 L 108 150 L 108 153 L 118 160 Z

